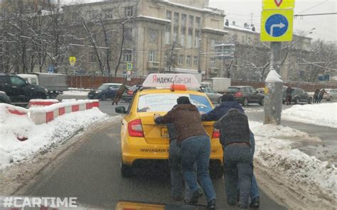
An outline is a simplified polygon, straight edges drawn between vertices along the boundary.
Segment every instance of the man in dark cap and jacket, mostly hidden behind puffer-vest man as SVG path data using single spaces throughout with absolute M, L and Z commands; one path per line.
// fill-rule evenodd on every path
M 201 116 L 202 121 L 218 121 L 221 117 L 223 117 L 225 114 L 228 113 L 230 109 L 237 109 L 239 110 L 242 114 L 245 114 L 245 111 L 243 110 L 242 106 L 239 104 L 239 102 L 234 100 L 234 96 L 232 94 L 224 94 L 221 97 L 222 103 L 215 107 L 212 111 L 203 114 Z M 224 140 L 224 139 L 223 139 Z M 221 141 L 221 144 L 225 145 L 225 142 Z M 255 138 L 254 138 L 254 133 L 250 131 L 250 145 L 252 146 L 251 148 L 251 155 L 252 155 L 252 160 L 254 157 L 255 153 Z M 252 199 L 250 203 L 251 208 L 259 208 L 260 206 L 260 192 L 259 188 L 257 187 L 257 182 L 256 178 L 253 174 L 252 176 L 252 187 L 250 189 L 250 199 Z

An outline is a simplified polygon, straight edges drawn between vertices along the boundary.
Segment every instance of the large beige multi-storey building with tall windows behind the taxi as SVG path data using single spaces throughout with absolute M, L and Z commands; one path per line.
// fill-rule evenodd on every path
M 215 43 L 223 42 L 224 11 L 208 7 L 208 1 L 106 1 L 91 4 L 65 6 L 65 16 L 73 21 L 69 27 L 72 34 L 80 38 L 73 40 L 70 53 L 80 59 L 77 67 L 87 72 L 97 72 L 95 52 L 82 45 L 91 45 L 85 39 L 81 18 L 95 34 L 97 45 L 104 45 L 105 36 L 97 17 L 104 21 L 106 31 L 112 31 L 112 43 L 104 45 L 111 49 L 110 72 L 116 72 L 116 63 L 122 49 L 117 74 L 127 72 L 132 64 L 135 76 L 146 76 L 153 72 L 202 72 L 209 74 L 213 66 Z M 121 48 L 121 26 L 124 24 L 124 44 Z M 92 23 L 90 23 L 92 22 Z M 102 24 L 101 24 L 102 25 Z M 79 41 L 80 40 L 80 41 Z M 102 60 L 107 49 L 100 48 Z

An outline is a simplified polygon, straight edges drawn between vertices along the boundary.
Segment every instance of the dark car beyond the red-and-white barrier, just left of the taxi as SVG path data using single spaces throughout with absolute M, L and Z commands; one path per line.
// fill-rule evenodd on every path
M 104 83 L 97 89 L 90 90 L 87 97 L 88 99 L 99 99 L 102 101 L 114 99 L 114 95 L 121 86 L 121 83 Z

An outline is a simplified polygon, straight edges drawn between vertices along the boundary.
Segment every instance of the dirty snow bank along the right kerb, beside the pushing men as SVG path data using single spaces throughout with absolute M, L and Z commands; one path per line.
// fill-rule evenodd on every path
M 315 192 L 318 188 L 337 198 L 336 166 L 291 149 L 292 142 L 287 139 L 310 139 L 307 133 L 284 126 L 262 125 L 255 121 L 250 121 L 250 128 L 255 133 L 255 159 L 263 167 L 282 175 L 284 182 L 291 183 L 290 187 L 294 187 L 294 190 L 304 187 Z M 316 194 L 319 191 L 316 190 Z

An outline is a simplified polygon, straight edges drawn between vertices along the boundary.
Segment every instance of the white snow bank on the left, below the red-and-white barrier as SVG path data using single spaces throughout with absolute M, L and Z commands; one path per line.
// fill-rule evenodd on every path
M 105 118 L 108 116 L 94 107 L 59 116 L 48 124 L 35 125 L 28 116 L 0 112 L 0 169 L 10 162 L 21 162 L 31 159 L 36 153 L 46 153 L 76 131 Z M 28 140 L 19 141 L 17 136 Z

